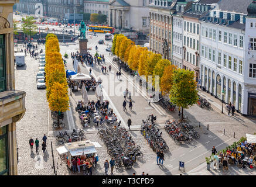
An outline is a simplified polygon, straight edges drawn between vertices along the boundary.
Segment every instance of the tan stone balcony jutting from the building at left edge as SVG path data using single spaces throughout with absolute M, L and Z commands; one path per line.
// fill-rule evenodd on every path
M 0 122 L 12 118 L 12 122 L 18 122 L 26 112 L 24 91 L 0 92 Z

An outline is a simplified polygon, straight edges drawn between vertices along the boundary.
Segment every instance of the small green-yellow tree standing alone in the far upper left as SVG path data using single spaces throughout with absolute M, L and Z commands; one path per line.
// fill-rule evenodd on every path
M 22 22 L 22 31 L 28 35 L 28 39 L 30 40 L 30 37 L 36 34 L 36 20 L 32 16 L 26 16 L 26 18 L 22 18 Z

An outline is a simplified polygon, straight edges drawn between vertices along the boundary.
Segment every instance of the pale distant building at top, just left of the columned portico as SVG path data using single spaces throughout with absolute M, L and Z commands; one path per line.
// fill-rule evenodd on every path
M 101 13 L 108 17 L 108 13 L 110 11 L 108 1 L 109 0 L 85 0 L 84 13 Z

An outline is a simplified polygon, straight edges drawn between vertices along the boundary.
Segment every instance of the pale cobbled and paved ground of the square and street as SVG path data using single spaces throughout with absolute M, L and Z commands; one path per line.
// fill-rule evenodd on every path
M 205 162 L 205 157 L 209 157 L 211 148 L 216 147 L 217 151 L 226 148 L 228 145 L 233 144 L 234 141 L 240 139 L 241 136 L 245 136 L 245 133 L 256 132 L 255 121 L 243 116 L 233 117 L 221 114 L 214 109 L 202 109 L 199 106 L 194 105 L 189 109 L 185 109 L 185 115 L 188 116 L 190 124 L 196 126 L 196 130 L 200 133 L 200 138 L 197 141 L 192 141 L 190 144 L 178 145 L 163 129 L 165 121 L 178 120 L 178 112 L 167 112 L 158 103 L 151 103 L 149 105 L 149 95 L 144 88 L 141 88 L 138 84 L 138 80 L 130 77 L 125 71 L 122 71 L 120 79 L 117 79 L 115 73 L 118 71 L 118 65 L 112 61 L 114 56 L 110 56 L 110 52 L 105 51 L 107 44 L 111 41 L 105 41 L 104 44 L 98 44 L 98 40 L 104 40 L 104 34 L 98 33 L 98 37 L 91 36 L 88 38 L 89 53 L 94 56 L 95 46 L 98 46 L 98 53 L 104 55 L 105 64 L 107 67 L 111 65 L 111 72 L 102 73 L 101 65 L 95 65 L 91 67 L 92 75 L 95 78 L 101 78 L 103 80 L 103 93 L 104 99 L 110 102 L 110 108 L 114 110 L 117 115 L 118 121 L 121 120 L 121 126 L 128 129 L 127 120 L 132 120 L 131 131 L 129 131 L 135 140 L 136 145 L 141 146 L 141 151 L 144 157 L 138 160 L 132 169 L 127 169 L 123 172 L 114 170 L 114 175 L 132 175 L 133 172 L 136 175 L 141 175 L 144 171 L 149 175 L 179 175 L 182 171 L 179 171 L 179 161 L 185 162 L 185 172 L 198 167 Z M 21 47 L 21 45 L 19 45 Z M 45 46 L 40 45 L 40 49 L 43 49 L 45 53 Z M 73 71 L 73 65 L 71 60 L 71 52 L 78 51 L 78 41 L 72 44 L 60 44 L 60 53 L 62 56 L 67 53 L 69 55 L 66 58 L 67 70 Z M 101 139 L 97 136 L 98 127 L 90 125 L 83 127 L 78 119 L 78 113 L 74 109 L 78 100 L 82 100 L 80 89 L 78 92 L 73 92 L 70 95 L 70 110 L 65 112 L 64 123 L 66 127 L 64 129 L 56 130 L 52 126 L 52 120 L 50 119 L 50 110 L 46 101 L 45 89 L 36 89 L 36 73 L 38 70 L 38 60 L 30 57 L 25 58 L 26 65 L 24 67 L 15 67 L 15 86 L 16 89 L 21 89 L 26 92 L 26 113 L 23 119 L 16 123 L 17 126 L 17 141 L 19 147 L 19 162 L 18 162 L 18 174 L 19 175 L 53 175 L 53 159 L 52 150 L 50 147 L 50 141 L 53 143 L 54 162 L 56 165 L 57 175 L 74 175 L 66 167 L 66 164 L 60 160 L 58 155 L 57 141 L 55 136 L 57 131 L 71 131 L 73 129 L 83 129 L 86 131 L 86 137 L 91 141 L 97 141 L 102 146 L 96 148 L 99 156 L 97 169 L 93 168 L 93 175 L 105 175 L 103 163 L 105 160 L 111 158 L 107 154 L 106 147 Z M 89 74 L 90 66 L 80 64 L 81 72 Z M 143 86 L 142 86 L 143 87 Z M 114 88 L 114 89 L 113 89 Z M 122 92 L 128 88 L 132 91 L 132 110 L 127 109 L 124 112 L 122 108 L 122 102 L 124 97 Z M 70 92 L 70 90 L 69 90 Z M 89 100 L 97 101 L 95 93 L 93 91 L 88 92 Z M 149 145 L 146 143 L 145 138 L 142 136 L 140 126 L 142 119 L 146 119 L 148 115 L 157 116 L 156 126 L 162 131 L 162 137 L 166 141 L 169 147 L 169 152 L 165 154 L 165 161 L 163 165 L 156 165 L 156 154 L 152 151 Z M 199 127 L 200 122 L 200 127 Z M 207 130 L 207 124 L 209 130 Z M 226 133 L 223 134 L 223 129 L 226 129 Z M 233 133 L 235 132 L 235 138 Z M 47 153 L 43 155 L 42 147 L 39 146 L 39 155 L 36 155 L 35 150 L 30 152 L 29 138 L 32 137 L 39 139 L 39 145 L 42 144 L 43 134 L 47 136 Z

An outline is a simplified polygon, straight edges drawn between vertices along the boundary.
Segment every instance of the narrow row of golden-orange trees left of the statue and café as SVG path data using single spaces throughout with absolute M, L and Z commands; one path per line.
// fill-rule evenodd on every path
M 52 111 L 66 112 L 69 109 L 69 93 L 66 72 L 60 54 L 59 40 L 47 34 L 45 45 L 46 98 Z M 59 115 L 57 122 L 60 123 Z

